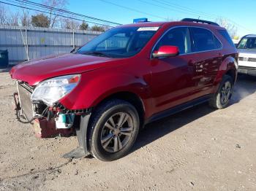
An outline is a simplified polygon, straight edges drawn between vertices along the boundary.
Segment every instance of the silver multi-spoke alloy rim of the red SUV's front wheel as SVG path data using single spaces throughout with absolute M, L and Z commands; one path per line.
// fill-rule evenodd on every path
M 107 152 L 118 152 L 127 145 L 134 131 L 132 117 L 119 112 L 105 122 L 101 133 L 101 144 Z

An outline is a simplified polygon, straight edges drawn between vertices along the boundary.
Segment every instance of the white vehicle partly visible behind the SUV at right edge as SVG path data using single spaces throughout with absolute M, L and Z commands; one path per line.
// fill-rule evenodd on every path
M 238 72 L 256 76 L 256 34 L 244 36 L 237 45 Z

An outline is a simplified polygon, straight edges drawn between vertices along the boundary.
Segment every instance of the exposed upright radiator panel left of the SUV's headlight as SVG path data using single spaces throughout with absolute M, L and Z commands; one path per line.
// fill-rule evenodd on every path
M 23 114 L 25 114 L 26 118 L 30 120 L 33 117 L 33 109 L 30 100 L 32 87 L 29 87 L 29 85 L 26 85 L 25 83 L 18 82 L 17 88 L 20 98 L 20 106 L 23 110 Z

